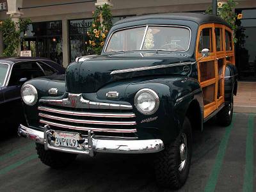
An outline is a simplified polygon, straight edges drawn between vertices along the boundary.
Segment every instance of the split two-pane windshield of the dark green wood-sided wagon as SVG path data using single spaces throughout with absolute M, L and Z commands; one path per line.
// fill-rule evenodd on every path
M 145 26 L 116 31 L 111 36 L 106 52 L 159 50 L 188 51 L 190 31 L 174 26 Z

